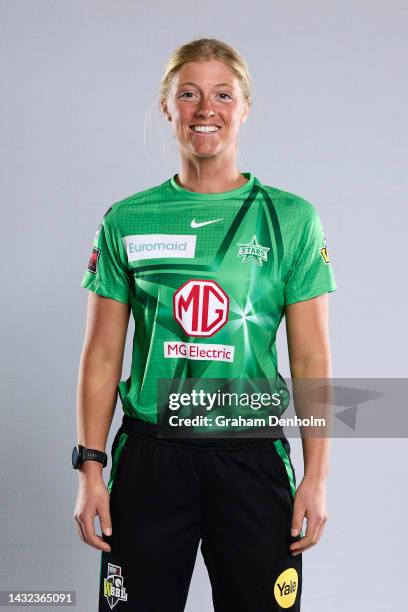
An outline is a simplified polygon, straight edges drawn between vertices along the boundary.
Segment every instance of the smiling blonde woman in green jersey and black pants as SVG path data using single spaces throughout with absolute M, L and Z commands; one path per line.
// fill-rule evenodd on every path
M 160 103 L 180 172 L 109 208 L 81 283 L 91 292 L 78 443 L 92 452 L 83 460 L 74 449 L 74 517 L 81 539 L 102 551 L 99 610 L 184 610 L 200 540 L 216 612 L 299 610 L 301 553 L 326 521 L 327 439 L 303 440 L 295 493 L 283 435 L 158 437 L 157 382 L 281 379 L 284 315 L 292 377 L 330 377 L 327 293 L 336 287 L 322 226 L 306 200 L 238 170 L 251 86 L 229 45 L 177 49 Z M 131 376 L 120 381 L 130 310 Z M 117 390 L 124 415 L 106 487 Z

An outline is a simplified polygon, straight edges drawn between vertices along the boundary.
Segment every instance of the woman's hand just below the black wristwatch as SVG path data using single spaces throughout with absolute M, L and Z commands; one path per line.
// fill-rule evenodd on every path
M 79 536 L 86 544 L 110 552 L 109 544 L 95 533 L 94 518 L 97 515 L 102 532 L 107 536 L 111 535 L 109 491 L 102 476 L 81 477 L 74 511 Z

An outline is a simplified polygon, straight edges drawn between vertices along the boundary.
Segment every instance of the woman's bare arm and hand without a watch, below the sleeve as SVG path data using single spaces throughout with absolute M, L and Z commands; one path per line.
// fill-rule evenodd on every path
M 331 378 L 327 293 L 288 305 L 286 333 L 292 378 Z M 304 517 L 307 529 L 304 538 L 291 544 L 293 554 L 316 544 L 327 521 L 330 438 L 302 437 L 302 446 L 304 477 L 295 495 L 292 535 L 298 535 Z

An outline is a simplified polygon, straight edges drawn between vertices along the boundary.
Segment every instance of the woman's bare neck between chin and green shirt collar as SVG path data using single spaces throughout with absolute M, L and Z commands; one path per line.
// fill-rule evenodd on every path
M 177 183 L 199 193 L 221 193 L 237 189 L 247 182 L 236 166 L 236 160 L 225 162 L 214 157 L 181 157 Z

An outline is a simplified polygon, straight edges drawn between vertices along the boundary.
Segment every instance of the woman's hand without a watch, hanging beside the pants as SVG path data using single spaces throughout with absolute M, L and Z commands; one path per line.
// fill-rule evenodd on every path
M 293 542 L 290 550 L 293 556 L 311 548 L 320 540 L 327 521 L 326 481 L 304 477 L 294 498 L 292 535 L 297 536 L 307 519 L 306 533 L 303 538 Z

